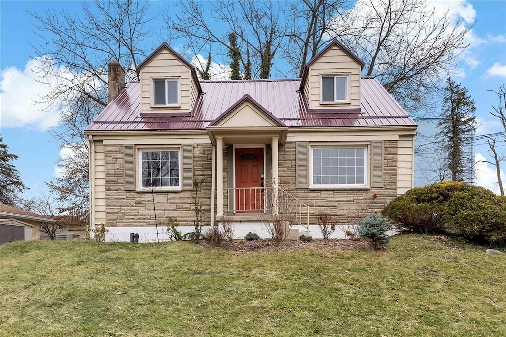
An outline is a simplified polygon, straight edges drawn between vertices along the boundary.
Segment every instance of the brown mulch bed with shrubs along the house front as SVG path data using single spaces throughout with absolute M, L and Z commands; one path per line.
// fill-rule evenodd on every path
M 199 240 L 198 245 L 210 247 L 206 240 Z M 223 241 L 220 249 L 232 250 L 237 252 L 258 251 L 265 249 L 291 250 L 291 249 L 332 249 L 332 250 L 368 250 L 368 243 L 364 240 L 345 240 L 345 239 L 315 239 L 312 242 L 301 240 L 285 240 L 275 246 L 274 241 L 270 239 L 259 239 L 246 241 L 237 239 L 233 241 Z

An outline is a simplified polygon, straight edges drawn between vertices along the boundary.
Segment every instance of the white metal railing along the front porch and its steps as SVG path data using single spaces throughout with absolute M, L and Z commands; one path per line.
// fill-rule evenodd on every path
M 278 215 L 289 219 L 292 225 L 301 225 L 305 227 L 309 234 L 309 205 L 288 193 L 283 187 L 277 187 L 276 196 L 273 193 L 272 186 L 226 187 L 223 190 L 226 205 L 228 206 L 227 210 L 232 210 L 236 214 L 266 214 L 270 212 L 267 207 L 277 205 Z

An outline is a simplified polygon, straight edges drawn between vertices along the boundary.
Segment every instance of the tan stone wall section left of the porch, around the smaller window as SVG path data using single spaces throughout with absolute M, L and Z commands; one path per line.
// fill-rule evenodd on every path
M 106 145 L 105 194 L 106 227 L 154 226 L 153 199 L 151 192 L 125 191 L 123 181 L 123 146 Z M 193 147 L 193 172 L 197 180 L 204 179 L 199 192 L 204 224 L 210 222 L 211 167 L 213 150 L 210 144 Z M 158 222 L 177 218 L 182 226 L 193 226 L 195 219 L 192 191 L 155 192 L 154 201 Z

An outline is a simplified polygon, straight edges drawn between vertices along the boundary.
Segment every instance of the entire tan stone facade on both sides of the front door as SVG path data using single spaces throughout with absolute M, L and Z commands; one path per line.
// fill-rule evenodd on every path
M 232 146 L 232 145 L 229 145 Z M 125 191 L 123 181 L 123 147 L 106 145 L 105 148 L 105 193 L 106 226 L 154 226 L 153 199 L 151 192 Z M 211 214 L 211 182 L 213 150 L 210 144 L 195 144 L 194 176 L 202 180 L 198 200 L 202 203 L 203 225 L 209 225 Z M 228 155 L 224 150 L 223 180 L 229 186 Z M 308 190 L 296 188 L 296 143 L 286 143 L 279 148 L 280 186 L 294 197 L 311 207 L 311 224 L 317 223 L 318 212 L 328 212 L 336 217 L 338 224 L 349 224 L 348 220 L 357 212 L 367 214 L 374 208 L 383 208 L 397 196 L 397 141 L 385 142 L 384 188 L 370 190 Z M 270 158 L 268 159 L 270 160 Z M 218 172 L 218 174 L 221 174 Z M 377 196 L 372 199 L 375 193 Z M 182 226 L 193 226 L 194 192 L 155 192 L 154 201 L 159 223 L 168 218 L 177 218 Z M 224 207 L 228 207 L 227 193 L 224 193 Z M 367 208 L 364 211 L 364 208 Z M 214 212 L 217 208 L 215 205 Z

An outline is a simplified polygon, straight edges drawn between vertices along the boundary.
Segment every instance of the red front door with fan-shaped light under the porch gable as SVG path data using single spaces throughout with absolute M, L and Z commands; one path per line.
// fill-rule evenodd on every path
M 263 148 L 235 149 L 235 212 L 263 213 Z

